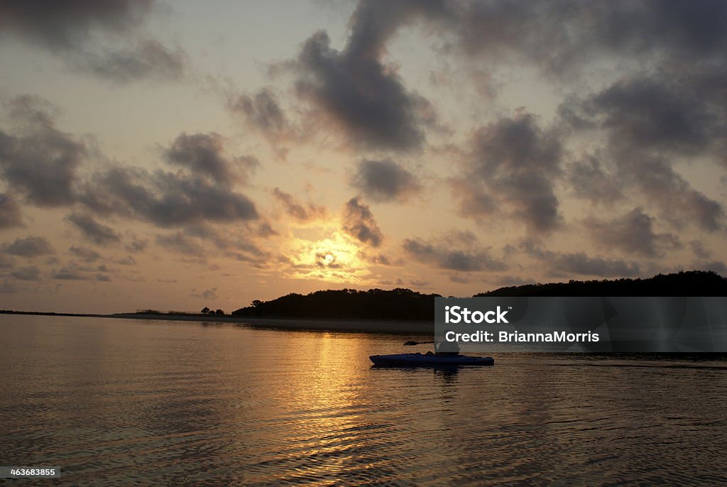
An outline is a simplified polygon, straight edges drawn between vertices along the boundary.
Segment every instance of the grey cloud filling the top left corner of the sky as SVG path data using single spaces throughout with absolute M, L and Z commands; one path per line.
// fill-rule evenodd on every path
M 180 79 L 187 56 L 145 39 L 140 26 L 153 0 L 9 0 L 0 33 L 10 33 L 60 56 L 71 68 L 116 83 Z

